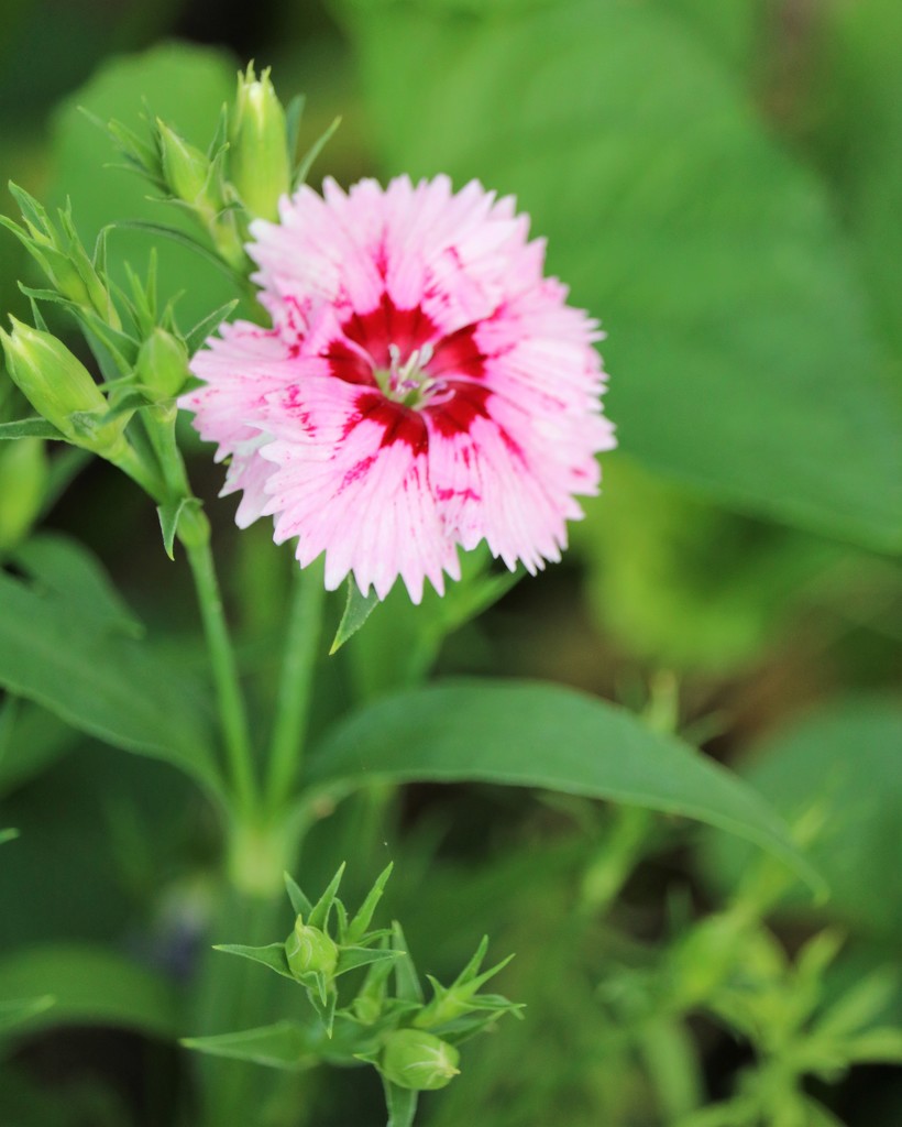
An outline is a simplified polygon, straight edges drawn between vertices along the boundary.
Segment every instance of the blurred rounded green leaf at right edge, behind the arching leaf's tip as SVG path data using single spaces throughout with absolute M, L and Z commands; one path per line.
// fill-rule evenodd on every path
M 830 914 L 856 931 L 902 937 L 902 707 L 854 698 L 820 709 L 749 748 L 739 770 L 787 819 L 812 811 L 820 829 L 809 855 L 830 885 Z M 720 835 L 703 851 L 730 886 L 741 849 Z M 787 911 L 810 913 L 794 898 Z

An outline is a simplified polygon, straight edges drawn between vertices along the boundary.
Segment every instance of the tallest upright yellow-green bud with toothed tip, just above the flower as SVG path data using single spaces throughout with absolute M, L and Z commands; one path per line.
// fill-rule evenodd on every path
M 292 161 L 285 110 L 269 80 L 253 65 L 238 76 L 235 114 L 230 130 L 229 176 L 252 216 L 278 219 L 279 197 L 292 188 Z

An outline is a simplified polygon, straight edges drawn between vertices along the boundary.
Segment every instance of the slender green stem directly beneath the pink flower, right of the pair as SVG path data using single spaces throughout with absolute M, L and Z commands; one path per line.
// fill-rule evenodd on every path
M 277 810 L 291 796 L 301 766 L 324 601 L 319 571 L 315 568 L 297 571 L 267 760 L 266 798 L 270 810 Z

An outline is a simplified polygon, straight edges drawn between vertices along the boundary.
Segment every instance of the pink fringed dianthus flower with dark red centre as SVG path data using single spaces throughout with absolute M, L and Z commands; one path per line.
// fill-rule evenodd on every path
M 330 589 L 352 573 L 384 598 L 400 575 L 414 603 L 459 578 L 458 545 L 533 574 L 560 559 L 615 445 L 602 334 L 543 277 L 513 199 L 327 179 L 279 215 L 248 247 L 273 328 L 221 326 L 180 400 L 230 460 L 238 524 L 274 516 L 302 567 L 325 553 Z

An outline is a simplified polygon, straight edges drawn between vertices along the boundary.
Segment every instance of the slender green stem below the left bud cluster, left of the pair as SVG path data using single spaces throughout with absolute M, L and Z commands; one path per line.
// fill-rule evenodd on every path
M 194 576 L 213 667 L 213 680 L 216 684 L 231 783 L 238 809 L 244 815 L 252 815 L 257 805 L 257 782 L 253 775 L 248 718 L 238 677 L 238 664 L 225 623 L 220 585 L 213 566 L 213 553 L 209 550 L 209 541 L 205 538 L 185 543 L 185 549 Z

